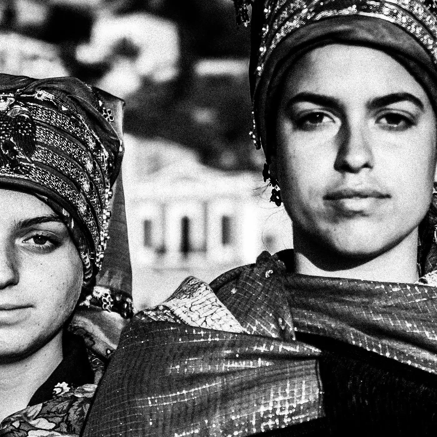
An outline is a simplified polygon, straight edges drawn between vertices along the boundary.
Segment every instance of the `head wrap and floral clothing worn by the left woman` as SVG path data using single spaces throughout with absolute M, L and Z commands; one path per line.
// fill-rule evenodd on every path
M 123 104 L 75 78 L 0 75 L 0 186 L 33 194 L 59 215 L 84 274 L 63 335 L 62 362 L 26 409 L 1 422 L 1 436 L 80 435 L 108 358 L 132 317 L 121 175 L 117 179 Z

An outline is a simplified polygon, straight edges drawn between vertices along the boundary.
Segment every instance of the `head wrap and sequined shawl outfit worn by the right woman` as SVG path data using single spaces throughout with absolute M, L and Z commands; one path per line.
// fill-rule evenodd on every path
M 240 21 L 249 3 L 251 135 L 266 179 L 277 92 L 316 47 L 384 51 L 437 108 L 434 3 L 237 0 Z M 436 205 L 434 195 L 420 225 L 416 284 L 296 274 L 290 250 L 261 253 L 211 284 L 187 278 L 125 328 L 85 435 L 434 434 Z

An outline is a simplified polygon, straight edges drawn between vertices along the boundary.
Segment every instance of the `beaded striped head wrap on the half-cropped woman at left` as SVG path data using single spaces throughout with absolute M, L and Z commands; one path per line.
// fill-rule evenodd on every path
M 109 239 L 123 105 L 73 77 L 0 74 L 0 184 L 34 194 L 59 214 L 82 257 L 88 293 Z M 94 291 L 96 304 L 112 309 L 111 296 L 100 294 Z

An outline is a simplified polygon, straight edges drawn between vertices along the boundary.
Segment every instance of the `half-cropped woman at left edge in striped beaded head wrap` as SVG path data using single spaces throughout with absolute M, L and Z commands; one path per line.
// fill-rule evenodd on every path
M 103 260 L 110 206 L 125 223 L 122 107 L 74 78 L 0 75 L 2 436 L 80 435 L 132 316 L 129 271 Z

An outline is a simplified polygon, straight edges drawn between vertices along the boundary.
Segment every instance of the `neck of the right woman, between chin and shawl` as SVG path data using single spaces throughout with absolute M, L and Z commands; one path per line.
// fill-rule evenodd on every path
M 372 257 L 342 256 L 293 229 L 294 270 L 312 276 L 344 277 L 411 284 L 417 271 L 417 229 L 400 243 Z

